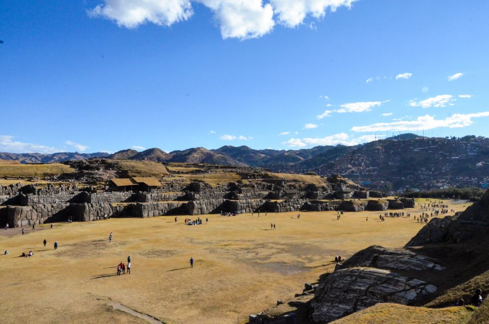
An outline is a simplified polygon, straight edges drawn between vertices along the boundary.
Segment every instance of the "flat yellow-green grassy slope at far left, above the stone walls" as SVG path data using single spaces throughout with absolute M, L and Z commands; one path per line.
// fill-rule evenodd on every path
M 75 170 L 61 163 L 0 165 L 0 176 L 5 177 L 49 177 L 72 172 Z

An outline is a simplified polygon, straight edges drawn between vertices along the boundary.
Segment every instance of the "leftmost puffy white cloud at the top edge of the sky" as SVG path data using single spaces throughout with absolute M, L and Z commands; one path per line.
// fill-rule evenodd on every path
M 190 0 L 104 0 L 89 11 L 94 17 L 115 20 L 119 26 L 136 28 L 151 22 L 160 26 L 171 26 L 187 20 L 193 14 Z

